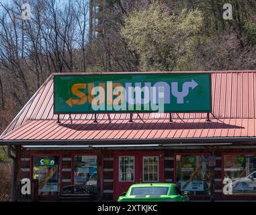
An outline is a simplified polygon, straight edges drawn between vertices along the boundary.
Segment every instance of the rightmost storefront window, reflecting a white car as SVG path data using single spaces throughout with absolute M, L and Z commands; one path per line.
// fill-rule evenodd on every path
M 224 155 L 224 178 L 232 180 L 229 194 L 256 194 L 256 155 Z

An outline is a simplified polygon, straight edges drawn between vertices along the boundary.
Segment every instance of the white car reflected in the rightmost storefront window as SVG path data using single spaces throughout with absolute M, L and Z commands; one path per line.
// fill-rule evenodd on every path
M 248 190 L 256 187 L 256 171 L 249 173 L 245 177 L 237 177 L 232 179 L 232 187 L 237 190 Z

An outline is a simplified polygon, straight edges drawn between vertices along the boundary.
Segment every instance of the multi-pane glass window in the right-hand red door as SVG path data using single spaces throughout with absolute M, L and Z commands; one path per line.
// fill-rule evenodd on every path
M 158 157 L 143 157 L 143 181 L 159 181 Z

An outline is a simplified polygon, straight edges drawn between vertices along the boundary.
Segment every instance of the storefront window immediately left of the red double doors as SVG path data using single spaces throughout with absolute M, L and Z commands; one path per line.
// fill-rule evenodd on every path
M 73 174 L 74 185 L 90 185 L 97 188 L 97 156 L 75 156 Z

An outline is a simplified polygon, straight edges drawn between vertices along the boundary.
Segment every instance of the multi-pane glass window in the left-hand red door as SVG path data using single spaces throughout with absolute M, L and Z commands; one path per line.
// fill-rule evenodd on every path
M 134 157 L 119 157 L 119 181 L 134 181 Z

